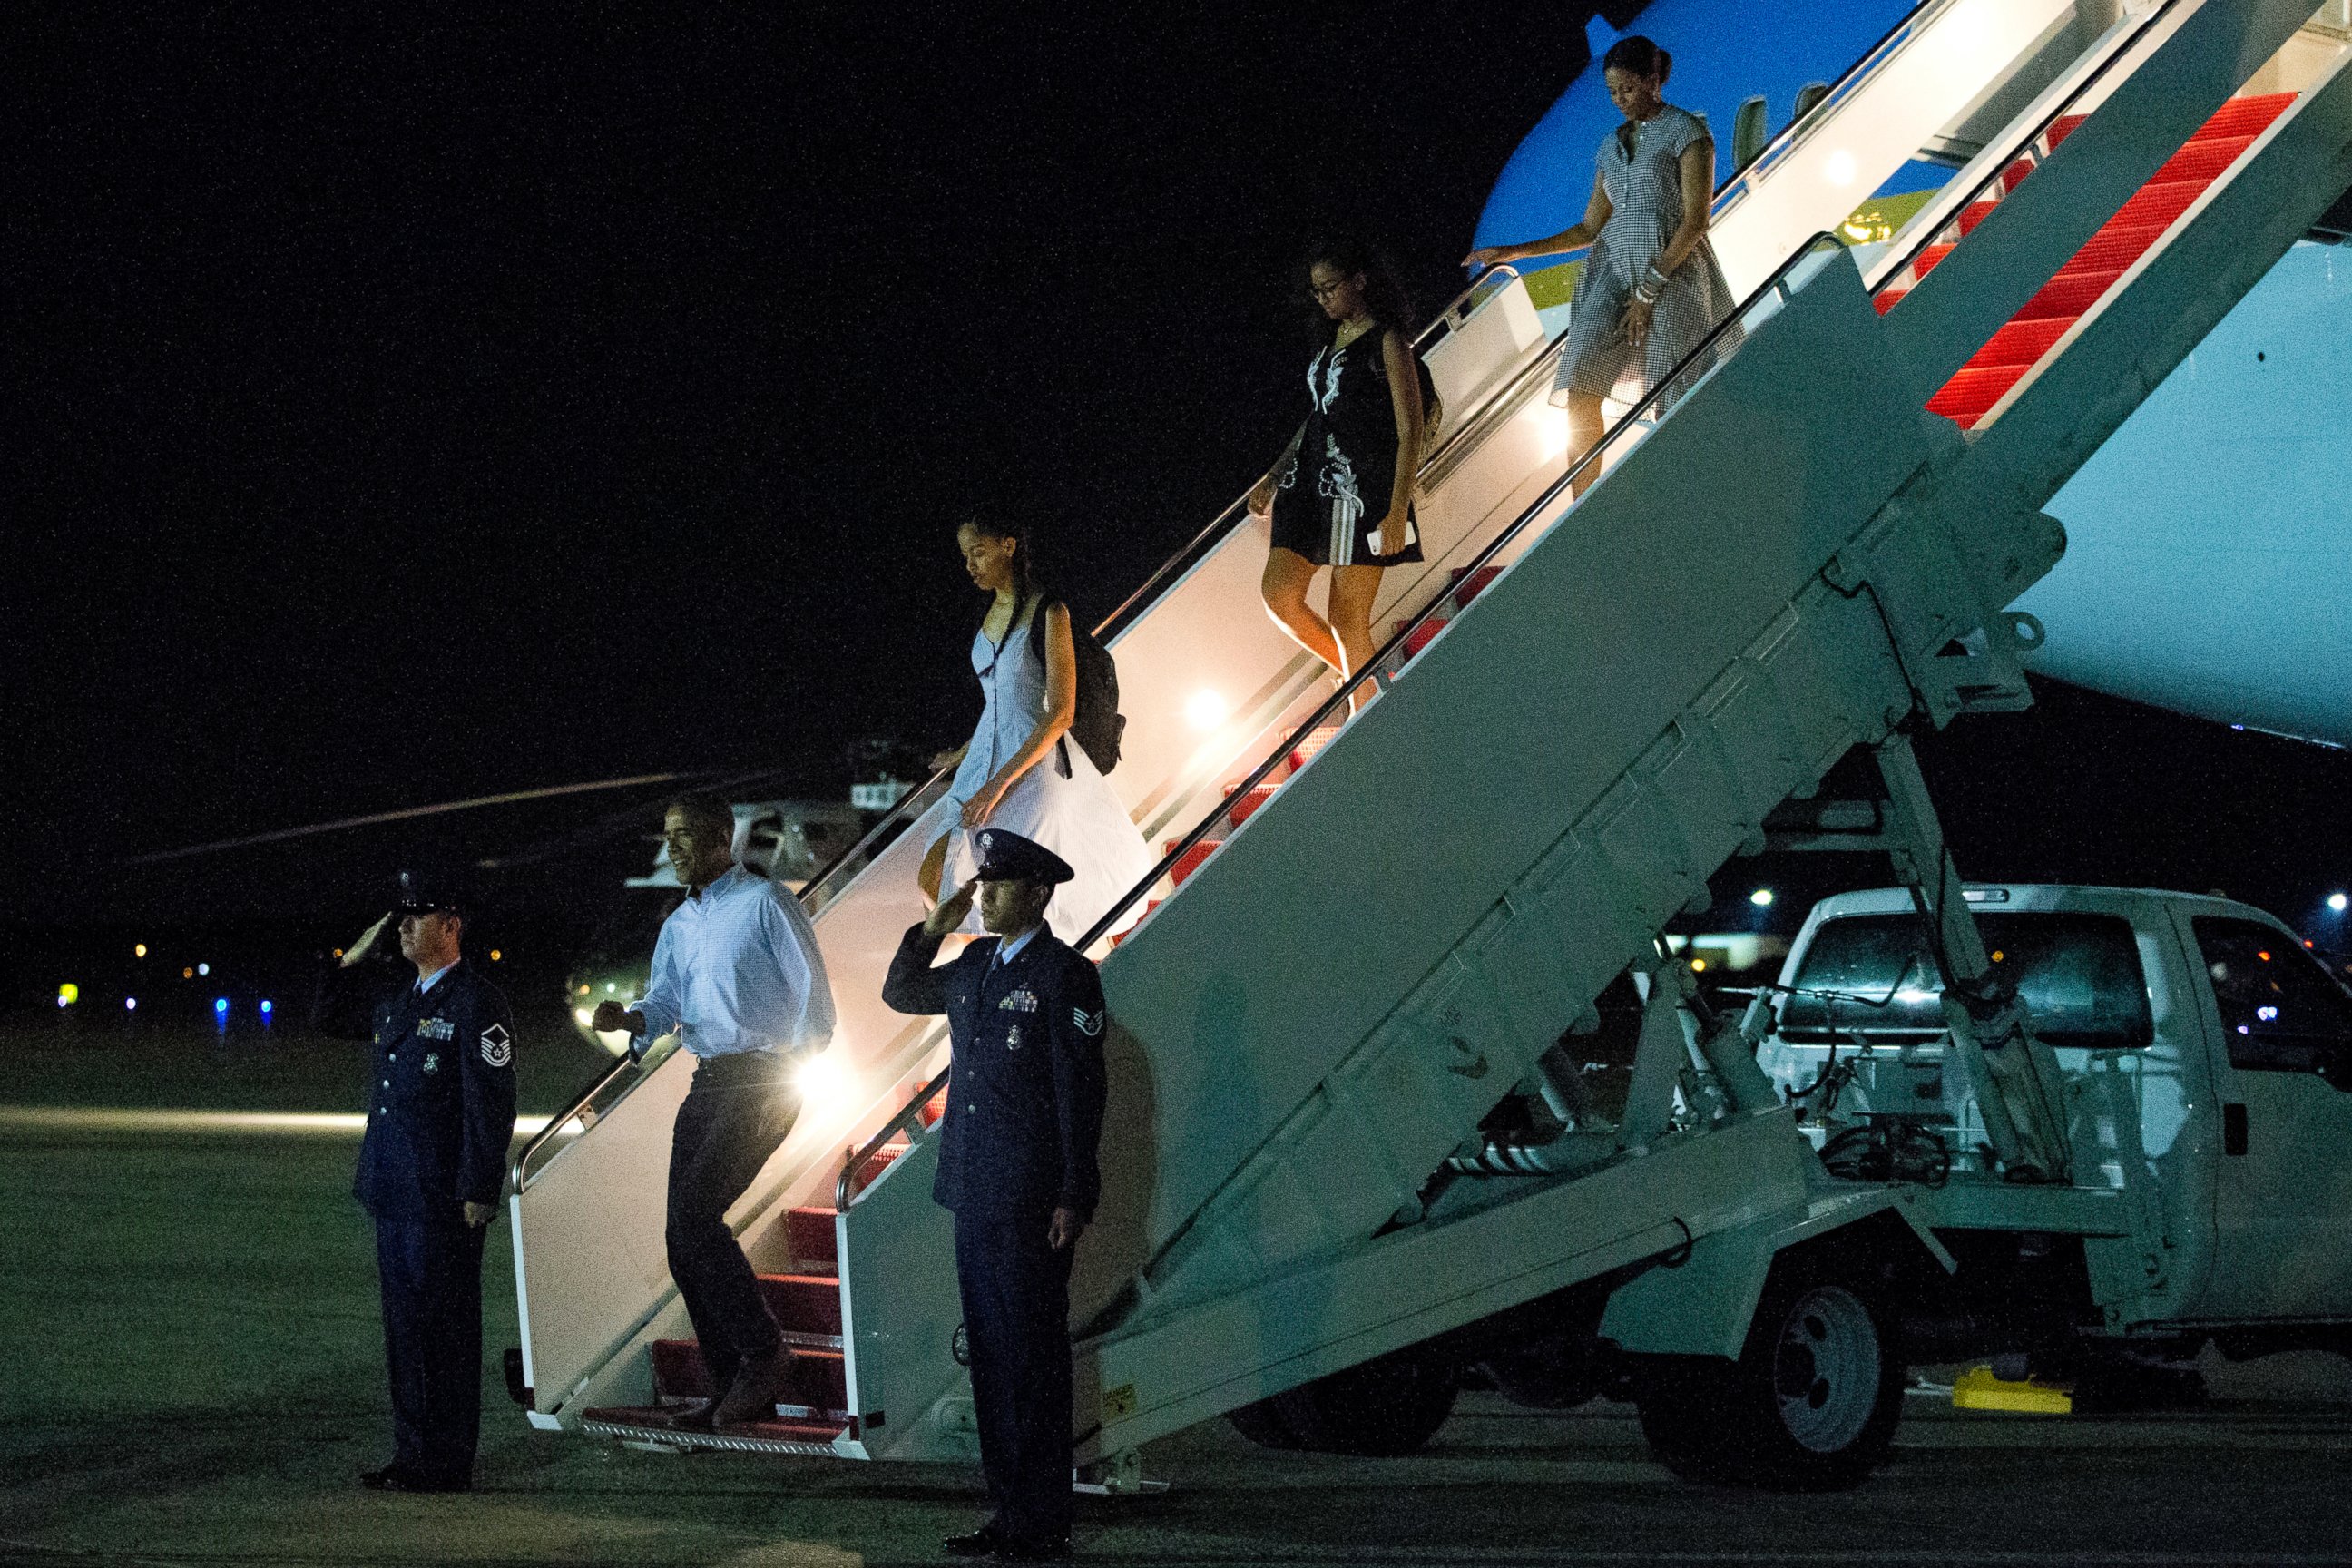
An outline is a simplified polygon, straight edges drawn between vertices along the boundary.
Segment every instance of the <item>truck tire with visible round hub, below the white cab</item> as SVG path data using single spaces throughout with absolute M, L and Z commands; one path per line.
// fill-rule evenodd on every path
M 1839 1490 L 1893 1446 L 1903 1356 L 1872 1291 L 1773 1269 L 1740 1359 L 1661 1359 L 1637 1408 L 1651 1453 L 1686 1481 Z

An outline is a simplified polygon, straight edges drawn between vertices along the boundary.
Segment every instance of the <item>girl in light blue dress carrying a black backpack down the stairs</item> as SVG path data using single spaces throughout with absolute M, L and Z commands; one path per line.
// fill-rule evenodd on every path
M 971 672 L 981 682 L 981 722 L 960 750 L 931 759 L 955 769 L 948 785 L 955 825 L 922 858 L 924 896 L 962 886 L 978 870 L 971 835 L 1009 827 L 1070 863 L 1077 872 L 1054 889 L 1047 922 L 1075 943 L 1155 865 L 1110 780 L 1070 736 L 1077 717 L 1077 651 L 1070 609 L 1037 590 L 1028 541 L 1016 524 L 974 517 L 955 531 L 964 571 L 990 595 L 971 637 Z M 1124 931 L 1143 903 L 1120 917 Z M 978 931 L 978 912 L 967 931 Z

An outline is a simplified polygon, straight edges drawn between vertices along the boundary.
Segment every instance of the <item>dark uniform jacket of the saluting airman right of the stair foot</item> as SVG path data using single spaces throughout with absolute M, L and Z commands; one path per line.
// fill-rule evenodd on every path
M 1103 983 L 1082 952 L 1037 931 L 1009 964 L 995 938 L 931 966 L 943 938 L 898 940 L 882 1001 L 946 1013 L 955 1072 L 931 1197 L 964 1215 L 1094 1218 L 1103 1178 Z

